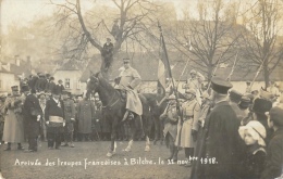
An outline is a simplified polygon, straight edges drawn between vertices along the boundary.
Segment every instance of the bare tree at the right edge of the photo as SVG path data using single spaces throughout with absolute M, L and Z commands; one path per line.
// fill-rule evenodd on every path
M 262 72 L 266 88 L 270 75 L 283 57 L 283 46 L 278 42 L 282 30 L 282 2 L 279 0 L 259 0 L 245 16 L 244 25 L 248 30 L 243 33 L 243 51 L 247 64 L 256 64 Z

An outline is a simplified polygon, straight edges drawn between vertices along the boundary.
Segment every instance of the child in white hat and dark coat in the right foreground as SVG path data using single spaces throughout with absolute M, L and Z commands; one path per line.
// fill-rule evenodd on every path
M 257 120 L 250 120 L 238 129 L 241 138 L 246 144 L 245 157 L 241 167 L 242 179 L 258 179 L 264 168 L 267 152 L 264 150 L 266 128 Z

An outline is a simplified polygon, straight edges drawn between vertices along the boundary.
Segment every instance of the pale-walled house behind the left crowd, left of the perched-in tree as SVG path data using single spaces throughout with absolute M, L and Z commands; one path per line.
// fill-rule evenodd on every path
M 61 79 L 65 89 L 73 94 L 79 94 L 85 90 L 85 88 L 82 88 L 79 81 L 81 76 L 82 69 L 75 60 L 67 60 L 61 67 L 57 68 L 53 74 L 56 84 Z

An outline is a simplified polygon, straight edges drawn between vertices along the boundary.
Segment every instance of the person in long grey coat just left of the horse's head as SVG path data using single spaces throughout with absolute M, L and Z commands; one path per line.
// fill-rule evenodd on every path
M 77 106 L 78 117 L 78 130 L 77 132 L 88 140 L 89 133 L 91 133 L 91 120 L 95 117 L 95 104 L 88 99 L 84 99 L 78 103 Z M 82 138 L 81 138 L 82 139 Z

